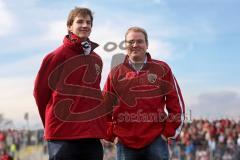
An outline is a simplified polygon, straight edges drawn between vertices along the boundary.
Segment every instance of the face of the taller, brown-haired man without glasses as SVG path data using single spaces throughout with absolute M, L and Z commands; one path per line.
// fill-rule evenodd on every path
M 83 40 L 86 40 L 91 33 L 92 23 L 89 15 L 75 17 L 73 24 L 68 27 L 68 30 Z

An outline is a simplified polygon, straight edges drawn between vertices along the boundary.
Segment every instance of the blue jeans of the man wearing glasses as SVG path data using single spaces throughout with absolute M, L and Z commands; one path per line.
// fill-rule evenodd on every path
M 129 148 L 117 143 L 117 160 L 168 160 L 168 144 L 159 136 L 144 148 Z

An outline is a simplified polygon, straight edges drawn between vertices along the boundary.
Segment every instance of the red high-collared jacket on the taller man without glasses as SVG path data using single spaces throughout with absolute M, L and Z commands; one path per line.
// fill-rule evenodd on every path
M 84 117 L 101 103 L 102 60 L 93 52 L 84 55 L 81 39 L 64 38 L 63 45 L 48 54 L 35 80 L 34 97 L 45 139 L 104 138 L 105 118 Z

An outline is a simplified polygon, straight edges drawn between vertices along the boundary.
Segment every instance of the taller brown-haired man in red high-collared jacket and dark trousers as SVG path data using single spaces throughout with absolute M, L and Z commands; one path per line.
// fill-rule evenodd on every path
M 105 118 L 80 116 L 101 103 L 102 60 L 93 51 L 98 44 L 88 38 L 92 24 L 91 10 L 73 9 L 68 35 L 44 58 L 35 81 L 49 160 L 103 159 L 99 139 L 105 137 Z

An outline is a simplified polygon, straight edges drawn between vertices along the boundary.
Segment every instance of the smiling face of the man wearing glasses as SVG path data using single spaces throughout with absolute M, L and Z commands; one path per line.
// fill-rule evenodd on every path
M 126 36 L 127 55 L 133 62 L 143 62 L 148 45 L 142 32 L 130 31 Z

